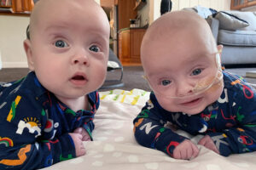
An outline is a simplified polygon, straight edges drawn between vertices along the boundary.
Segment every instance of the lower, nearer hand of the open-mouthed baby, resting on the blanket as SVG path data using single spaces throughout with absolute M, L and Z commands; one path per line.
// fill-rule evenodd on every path
M 80 133 L 68 133 L 73 139 L 73 143 L 75 144 L 76 156 L 84 156 L 86 151 L 83 144 L 83 136 Z

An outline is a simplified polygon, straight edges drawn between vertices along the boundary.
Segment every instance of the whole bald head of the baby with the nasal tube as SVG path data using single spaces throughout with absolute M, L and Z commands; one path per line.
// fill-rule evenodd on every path
M 164 14 L 143 37 L 145 76 L 167 111 L 197 114 L 222 93 L 218 51 L 207 21 L 198 14 Z

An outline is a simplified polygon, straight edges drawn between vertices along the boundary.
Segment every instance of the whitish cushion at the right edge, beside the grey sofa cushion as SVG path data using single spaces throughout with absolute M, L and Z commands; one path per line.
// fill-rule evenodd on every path
M 227 11 L 227 13 L 233 14 L 241 20 L 246 20 L 249 26 L 243 27 L 240 30 L 256 31 L 256 15 L 253 12 L 241 12 L 241 11 Z

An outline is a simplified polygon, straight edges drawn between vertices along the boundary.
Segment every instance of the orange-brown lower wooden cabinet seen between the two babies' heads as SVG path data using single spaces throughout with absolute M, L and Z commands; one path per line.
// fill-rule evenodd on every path
M 140 49 L 146 29 L 125 29 L 119 32 L 119 59 L 123 65 L 140 64 Z

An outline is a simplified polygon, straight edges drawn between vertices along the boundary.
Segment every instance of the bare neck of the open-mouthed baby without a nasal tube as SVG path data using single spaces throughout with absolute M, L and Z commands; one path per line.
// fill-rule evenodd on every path
M 67 105 L 71 110 L 73 111 L 79 111 L 79 110 L 88 110 L 89 109 L 89 102 L 87 95 L 76 98 L 76 99 L 63 99 L 59 98 L 62 103 Z

